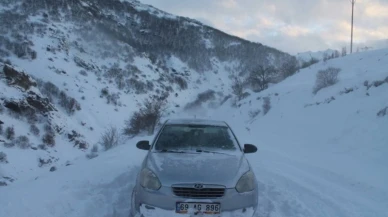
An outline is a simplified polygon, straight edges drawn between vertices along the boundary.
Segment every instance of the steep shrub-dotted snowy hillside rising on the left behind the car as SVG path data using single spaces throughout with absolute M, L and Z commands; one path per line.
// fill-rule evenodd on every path
M 230 75 L 293 59 L 138 1 L 0 0 L 0 20 L 1 186 L 102 151 L 144 99 L 218 106 Z

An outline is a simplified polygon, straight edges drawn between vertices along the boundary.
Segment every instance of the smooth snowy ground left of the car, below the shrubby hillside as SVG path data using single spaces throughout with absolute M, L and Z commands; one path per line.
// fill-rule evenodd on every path
M 146 152 L 128 142 L 37 180 L 0 190 L 0 216 L 128 216 L 137 165 Z

